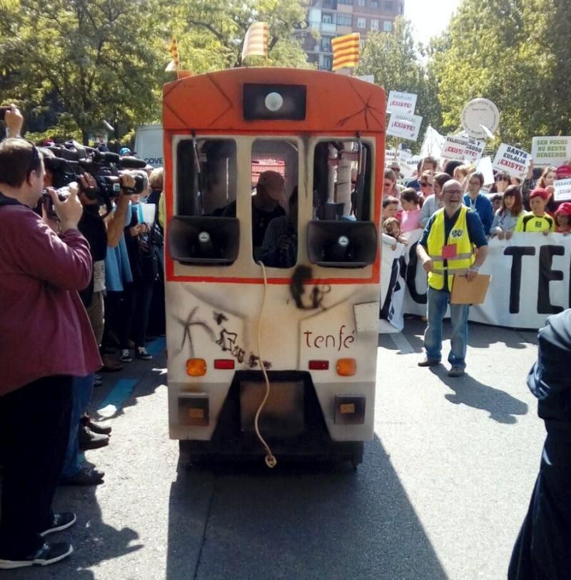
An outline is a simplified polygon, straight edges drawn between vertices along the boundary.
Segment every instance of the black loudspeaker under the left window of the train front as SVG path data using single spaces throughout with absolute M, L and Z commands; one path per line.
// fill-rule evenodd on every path
M 240 222 L 228 217 L 174 216 L 168 241 L 171 258 L 181 264 L 233 264 L 240 248 Z

